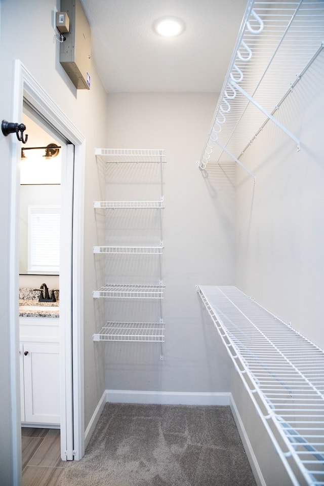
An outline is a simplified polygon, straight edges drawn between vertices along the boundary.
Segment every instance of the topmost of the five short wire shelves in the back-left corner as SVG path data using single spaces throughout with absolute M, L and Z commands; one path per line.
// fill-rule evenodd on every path
M 165 162 L 164 149 L 137 148 L 96 148 L 95 155 L 105 164 L 108 163 L 154 163 Z

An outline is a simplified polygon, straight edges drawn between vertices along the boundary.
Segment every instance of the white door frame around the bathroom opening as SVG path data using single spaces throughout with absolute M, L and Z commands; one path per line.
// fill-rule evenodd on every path
M 72 124 L 65 113 L 58 107 L 53 99 L 46 93 L 20 60 L 14 65 L 14 98 L 12 119 L 21 120 L 23 113 L 23 99 L 33 106 L 48 123 L 56 128 L 63 137 L 74 145 L 74 171 L 66 177 L 71 178 L 73 187 L 73 227 L 70 221 L 71 248 L 70 256 L 66 255 L 65 262 L 69 259 L 69 267 L 65 268 L 67 280 L 71 282 L 69 295 L 65 308 L 61 310 L 62 318 L 70 322 L 64 332 L 61 333 L 61 350 L 65 359 L 61 367 L 61 398 L 62 420 L 61 450 L 73 444 L 72 455 L 74 459 L 81 459 L 84 455 L 84 366 L 83 366 L 83 234 L 84 234 L 84 172 L 85 172 L 85 137 Z M 28 132 L 28 130 L 26 130 Z M 12 408 L 13 408 L 13 457 L 16 480 L 19 484 L 21 475 L 21 432 L 20 432 L 20 400 L 19 400 L 19 187 L 20 187 L 20 160 L 21 142 L 16 137 L 11 137 L 11 163 L 12 163 L 12 187 L 11 187 L 11 229 L 10 229 L 10 332 L 11 332 L 11 370 L 12 370 Z M 67 172 L 68 172 L 67 167 Z M 64 176 L 63 176 L 64 177 Z M 68 194 L 67 194 L 68 198 Z M 68 201 L 67 201 L 68 202 Z M 63 302 L 62 302 L 63 303 Z M 63 326 L 61 326 L 63 328 Z M 14 418 L 16 417 L 16 421 Z M 72 434 L 72 437 L 70 437 Z M 65 457 L 66 459 L 66 457 Z

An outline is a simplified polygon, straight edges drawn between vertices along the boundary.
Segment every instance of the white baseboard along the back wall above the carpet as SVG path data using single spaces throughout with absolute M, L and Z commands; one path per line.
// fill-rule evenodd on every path
M 229 405 L 230 393 L 106 390 L 111 403 L 158 403 L 163 405 Z

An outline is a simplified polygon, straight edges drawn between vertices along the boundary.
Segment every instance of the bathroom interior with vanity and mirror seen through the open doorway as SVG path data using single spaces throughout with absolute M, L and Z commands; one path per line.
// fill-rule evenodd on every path
M 64 410 L 60 402 L 60 253 L 67 250 L 60 238 L 61 172 L 67 141 L 26 102 L 22 123 L 28 127 L 28 140 L 20 159 L 21 422 L 23 428 L 60 428 Z M 41 296 L 53 302 L 28 310 L 38 305 Z M 23 436 L 24 431 L 22 440 Z

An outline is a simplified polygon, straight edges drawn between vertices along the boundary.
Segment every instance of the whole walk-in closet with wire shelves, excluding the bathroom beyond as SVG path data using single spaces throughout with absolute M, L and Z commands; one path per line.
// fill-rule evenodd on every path
M 0 14 L 2 119 L 28 103 L 74 159 L 68 400 L 47 477 L 235 486 L 239 456 L 251 484 L 324 485 L 324 0 L 3 0 Z M 71 72 L 62 56 L 84 42 Z M 15 133 L 0 147 L 0 482 L 20 486 L 24 160 Z

